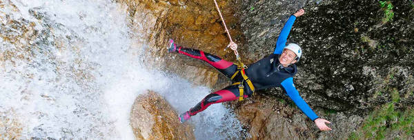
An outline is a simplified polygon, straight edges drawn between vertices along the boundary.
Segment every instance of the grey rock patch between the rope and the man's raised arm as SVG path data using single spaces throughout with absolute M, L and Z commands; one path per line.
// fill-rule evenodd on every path
M 240 17 L 239 23 L 242 26 L 246 43 L 239 49 L 242 50 L 242 57 L 253 63 L 262 57 L 272 53 L 277 36 L 287 21 L 288 16 L 306 1 L 249 1 L 239 0 Z

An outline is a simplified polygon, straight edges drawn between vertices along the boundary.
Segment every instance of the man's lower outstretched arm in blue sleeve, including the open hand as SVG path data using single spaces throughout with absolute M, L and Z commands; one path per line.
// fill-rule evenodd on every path
M 315 112 L 311 109 L 311 107 L 308 106 L 308 103 L 300 97 L 299 92 L 297 92 L 295 85 L 293 83 L 293 78 L 290 77 L 288 79 L 285 79 L 282 82 L 282 86 L 284 90 L 286 90 L 286 93 L 288 94 L 288 97 L 293 100 L 293 102 L 296 104 L 296 106 L 306 114 L 306 116 L 315 122 L 316 126 L 319 128 L 319 130 L 331 130 L 331 128 L 328 128 L 325 123 L 331 123 L 329 121 L 326 121 L 325 119 L 320 119 Z

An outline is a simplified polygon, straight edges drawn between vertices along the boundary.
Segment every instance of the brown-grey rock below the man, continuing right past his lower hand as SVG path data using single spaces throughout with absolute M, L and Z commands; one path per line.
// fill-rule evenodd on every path
M 363 117 L 344 112 L 316 109 L 319 117 L 328 118 L 331 132 L 320 132 L 293 103 L 257 94 L 254 98 L 230 105 L 246 126 L 248 139 L 347 139 Z

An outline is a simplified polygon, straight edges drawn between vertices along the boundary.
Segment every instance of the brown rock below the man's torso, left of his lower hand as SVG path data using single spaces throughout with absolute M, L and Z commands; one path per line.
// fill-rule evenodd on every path
M 256 94 L 249 100 L 233 103 L 237 118 L 248 128 L 249 139 L 315 139 L 315 129 L 300 110 L 273 97 Z M 311 126 L 308 127 L 307 125 Z

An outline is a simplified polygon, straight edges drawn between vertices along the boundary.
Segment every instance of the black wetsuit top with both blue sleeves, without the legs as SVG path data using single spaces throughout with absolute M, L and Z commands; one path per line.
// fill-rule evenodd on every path
M 286 41 L 295 19 L 296 17 L 291 15 L 288 21 L 286 21 L 277 38 L 273 54 L 250 65 L 246 70 L 246 74 L 257 90 L 273 87 L 284 88 L 288 97 L 296 103 L 297 107 L 302 110 L 309 119 L 314 121 L 318 118 L 317 115 L 304 99 L 300 97 L 299 92 L 297 92 L 295 84 L 293 83 L 293 76 L 297 72 L 296 65 L 292 64 L 289 67 L 284 68 L 282 64 L 279 63 L 280 54 L 282 54 L 282 51 L 286 46 Z

